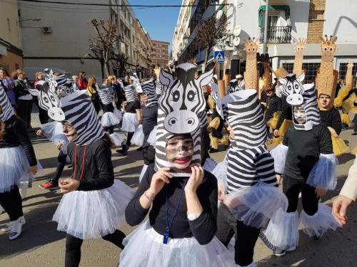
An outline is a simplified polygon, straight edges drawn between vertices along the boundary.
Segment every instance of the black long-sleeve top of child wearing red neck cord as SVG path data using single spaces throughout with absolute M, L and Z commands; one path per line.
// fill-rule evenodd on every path
M 76 164 L 74 162 L 75 147 L 74 142 L 70 142 L 67 150 L 71 164 L 76 169 L 76 174 L 72 173 L 72 178 L 80 179 L 85 146 L 77 146 Z M 84 175 L 77 190 L 91 191 L 111 187 L 114 184 L 114 170 L 109 145 L 104 140 L 97 140 L 86 146 L 85 157 Z

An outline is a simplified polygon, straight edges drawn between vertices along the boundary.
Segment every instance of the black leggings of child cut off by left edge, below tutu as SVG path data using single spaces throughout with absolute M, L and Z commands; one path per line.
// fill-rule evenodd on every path
M 22 199 L 17 185 L 14 185 L 9 192 L 0 193 L 0 205 L 9 214 L 10 221 L 16 221 L 24 215 L 22 213 Z

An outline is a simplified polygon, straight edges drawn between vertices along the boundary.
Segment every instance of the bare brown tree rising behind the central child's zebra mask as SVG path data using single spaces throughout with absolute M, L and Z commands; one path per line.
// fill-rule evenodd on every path
M 206 70 L 208 56 L 211 53 L 213 46 L 217 46 L 228 38 L 226 35 L 226 26 L 227 17 L 224 13 L 220 19 L 216 19 L 216 16 L 211 16 L 208 19 L 201 20 L 199 23 L 196 42 L 198 46 L 206 48 L 206 56 L 202 65 L 202 72 Z

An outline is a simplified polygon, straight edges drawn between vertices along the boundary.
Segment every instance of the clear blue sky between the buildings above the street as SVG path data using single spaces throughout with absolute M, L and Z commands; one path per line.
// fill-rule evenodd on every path
M 131 5 L 181 5 L 181 0 L 129 0 Z M 161 8 L 132 8 L 136 18 L 139 19 L 149 33 L 150 38 L 159 41 L 171 43 L 174 36 L 179 7 L 161 7 Z M 171 49 L 171 48 L 170 48 Z

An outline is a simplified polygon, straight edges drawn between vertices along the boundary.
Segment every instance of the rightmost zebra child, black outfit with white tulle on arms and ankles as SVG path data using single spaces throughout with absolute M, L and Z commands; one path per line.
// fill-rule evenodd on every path
M 284 81 L 282 81 L 284 82 Z M 328 229 L 339 224 L 331 215 L 331 208 L 319 203 L 327 190 L 336 187 L 337 159 L 333 155 L 331 134 L 320 122 L 313 84 L 301 90 L 294 84 L 283 94 L 293 107 L 293 125 L 288 128 L 283 143 L 271 151 L 278 178 L 283 174 L 283 192 L 288 198 L 287 211 L 278 211 L 268 225 L 266 236 L 280 248 L 281 256 L 298 246 L 298 226 L 305 234 L 321 239 Z M 296 211 L 301 192 L 303 211 L 298 218 Z

